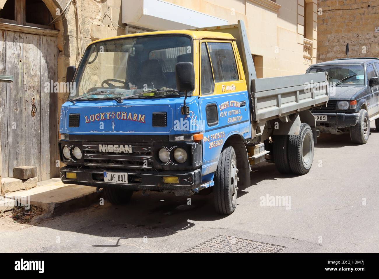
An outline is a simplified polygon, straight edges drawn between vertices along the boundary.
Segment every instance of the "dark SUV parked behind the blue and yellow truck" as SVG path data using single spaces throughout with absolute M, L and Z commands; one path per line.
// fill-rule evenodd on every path
M 366 143 L 370 121 L 379 131 L 379 58 L 335 59 L 310 66 L 307 73 L 327 72 L 329 101 L 312 113 L 322 133 L 350 133 L 354 143 Z

